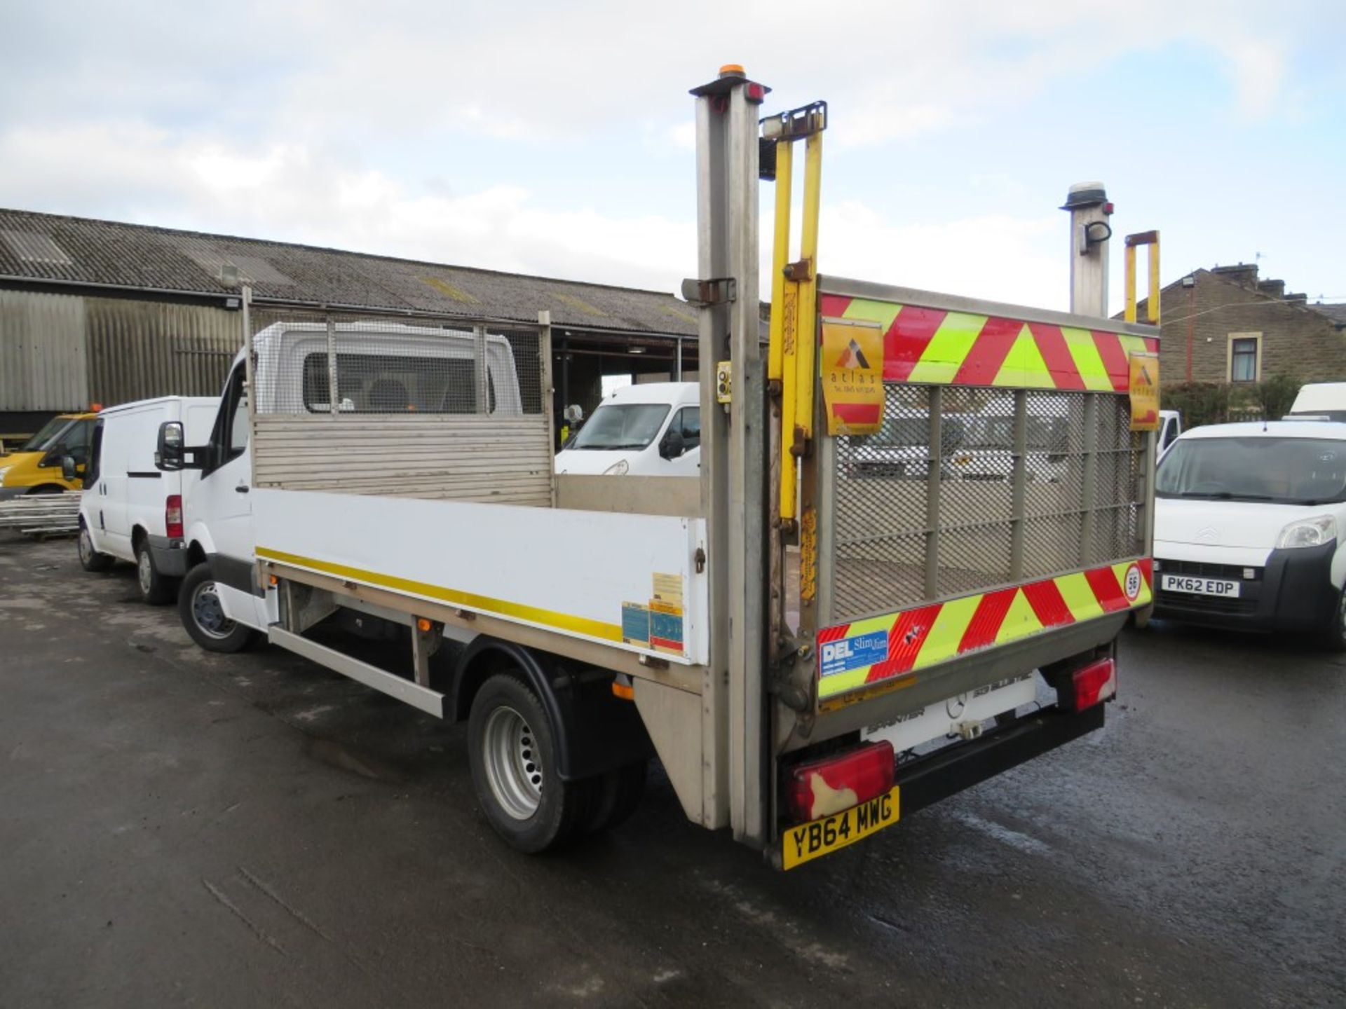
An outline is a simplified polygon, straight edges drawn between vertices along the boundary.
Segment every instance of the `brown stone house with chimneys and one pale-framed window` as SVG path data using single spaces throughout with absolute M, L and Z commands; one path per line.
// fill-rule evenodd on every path
M 1259 280 L 1256 265 L 1194 270 L 1160 292 L 1160 308 L 1164 383 L 1346 381 L 1346 304 L 1287 295 L 1285 281 Z

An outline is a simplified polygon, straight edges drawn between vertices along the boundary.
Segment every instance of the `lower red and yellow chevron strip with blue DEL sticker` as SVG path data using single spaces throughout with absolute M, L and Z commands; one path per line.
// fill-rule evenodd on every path
M 818 700 L 1149 603 L 1148 557 L 818 631 Z

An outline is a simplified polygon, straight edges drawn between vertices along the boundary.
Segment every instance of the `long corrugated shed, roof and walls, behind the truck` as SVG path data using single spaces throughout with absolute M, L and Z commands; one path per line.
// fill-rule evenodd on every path
M 602 375 L 689 377 L 696 313 L 673 295 L 252 238 L 0 210 L 0 436 L 152 396 L 214 396 L 258 304 L 536 323 L 561 404 Z

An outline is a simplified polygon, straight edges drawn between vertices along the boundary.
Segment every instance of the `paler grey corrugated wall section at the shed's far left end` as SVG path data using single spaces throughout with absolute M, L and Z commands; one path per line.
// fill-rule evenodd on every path
M 89 402 L 85 300 L 0 291 L 0 412 Z

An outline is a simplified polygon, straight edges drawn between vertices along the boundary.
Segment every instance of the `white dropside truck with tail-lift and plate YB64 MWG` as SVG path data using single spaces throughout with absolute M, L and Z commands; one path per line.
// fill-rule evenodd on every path
M 265 635 L 467 721 L 476 798 L 524 852 L 621 819 L 658 757 L 692 821 L 801 865 L 1101 728 L 1114 639 L 1151 599 L 1154 436 L 1131 431 L 1128 363 L 1156 331 L 1102 299 L 1058 313 L 820 276 L 825 106 L 759 124 L 765 93 L 734 69 L 693 91 L 699 479 L 553 471 L 546 305 L 536 326 L 385 320 L 245 292 L 210 440 L 162 432 L 160 465 L 201 471 L 197 640 Z M 1073 200 L 1084 233 L 1105 198 Z M 1106 242 L 1071 249 L 1101 291 Z M 1005 479 L 946 479 L 942 418 L 988 404 Z M 1028 472 L 1044 416 L 1053 480 Z M 867 470 L 853 436 L 903 417 L 919 460 Z

